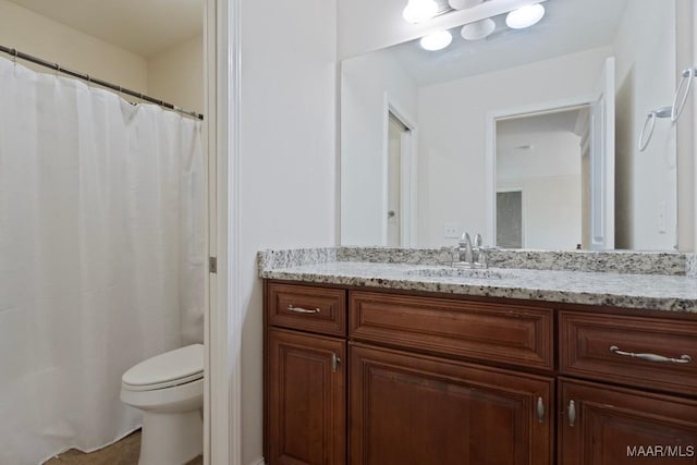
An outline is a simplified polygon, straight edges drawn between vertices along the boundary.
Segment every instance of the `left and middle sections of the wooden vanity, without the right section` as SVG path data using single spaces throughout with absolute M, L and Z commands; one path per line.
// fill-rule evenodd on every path
M 551 308 L 276 281 L 265 307 L 269 465 L 552 464 Z

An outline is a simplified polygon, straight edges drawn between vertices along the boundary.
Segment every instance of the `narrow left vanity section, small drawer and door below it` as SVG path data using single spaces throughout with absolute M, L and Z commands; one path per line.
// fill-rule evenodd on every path
M 346 293 L 265 284 L 265 458 L 346 461 Z

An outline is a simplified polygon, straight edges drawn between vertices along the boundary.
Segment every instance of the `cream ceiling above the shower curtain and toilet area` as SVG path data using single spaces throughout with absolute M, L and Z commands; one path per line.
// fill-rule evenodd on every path
M 201 34 L 204 0 L 10 0 L 144 58 Z

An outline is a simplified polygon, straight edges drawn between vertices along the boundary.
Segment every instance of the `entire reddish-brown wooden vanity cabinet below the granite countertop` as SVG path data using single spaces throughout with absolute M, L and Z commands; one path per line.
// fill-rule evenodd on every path
M 269 465 L 697 465 L 694 314 L 265 281 L 265 351 Z

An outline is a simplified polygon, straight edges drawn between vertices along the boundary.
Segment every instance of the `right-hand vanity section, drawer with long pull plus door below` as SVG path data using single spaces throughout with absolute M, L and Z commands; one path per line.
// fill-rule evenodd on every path
M 560 310 L 559 333 L 560 465 L 697 464 L 694 318 Z

